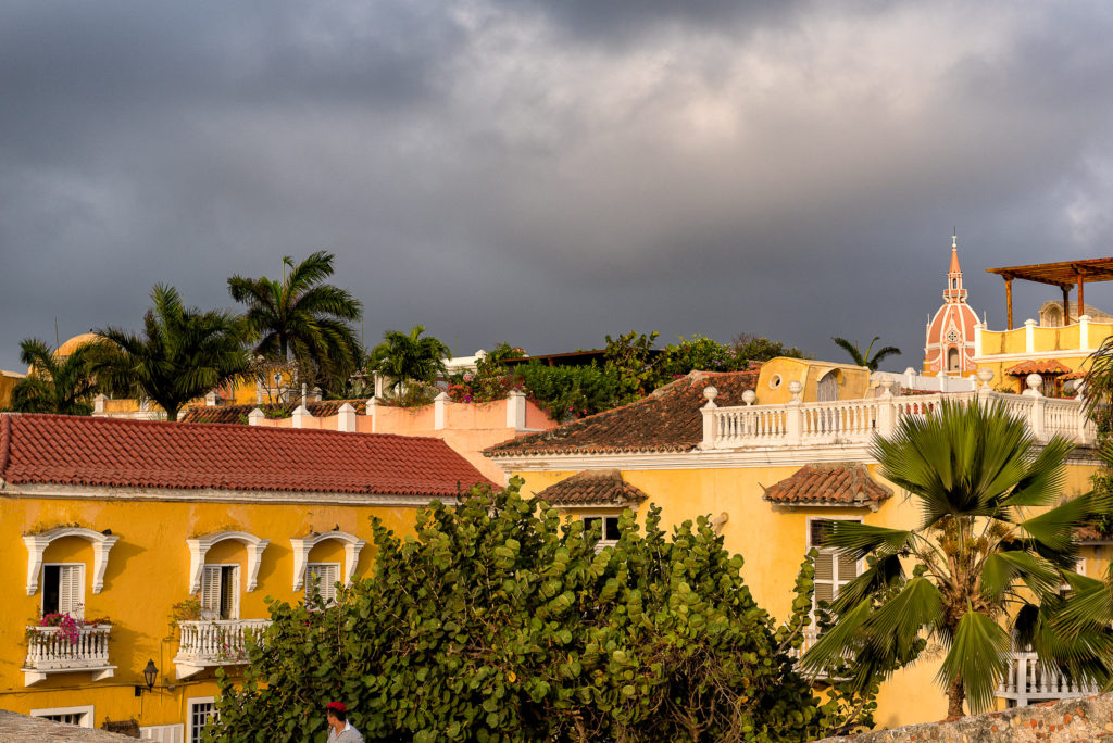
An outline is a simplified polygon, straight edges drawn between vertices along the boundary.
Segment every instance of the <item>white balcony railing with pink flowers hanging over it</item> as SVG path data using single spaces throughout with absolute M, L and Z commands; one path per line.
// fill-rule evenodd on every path
M 61 627 L 27 628 L 27 660 L 21 671 L 27 686 L 43 681 L 51 673 L 89 671 L 93 681 L 108 678 L 116 666 L 108 662 L 108 637 L 112 625 L 78 627 L 67 636 Z M 75 642 L 76 641 L 76 642 Z

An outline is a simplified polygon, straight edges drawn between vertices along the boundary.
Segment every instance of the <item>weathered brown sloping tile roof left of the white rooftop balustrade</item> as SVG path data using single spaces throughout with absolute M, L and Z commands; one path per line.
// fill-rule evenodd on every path
M 720 407 L 741 405 L 742 393 L 757 385 L 759 370 L 755 365 L 746 371 L 692 371 L 636 403 L 492 446 L 483 454 L 688 452 L 703 440 L 703 388 L 715 385 L 719 390 L 715 403 Z

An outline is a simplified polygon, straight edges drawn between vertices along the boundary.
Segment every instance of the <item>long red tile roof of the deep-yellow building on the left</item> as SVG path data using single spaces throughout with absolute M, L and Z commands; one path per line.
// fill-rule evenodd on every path
M 62 415 L 0 415 L 0 479 L 451 497 L 493 485 L 439 438 Z

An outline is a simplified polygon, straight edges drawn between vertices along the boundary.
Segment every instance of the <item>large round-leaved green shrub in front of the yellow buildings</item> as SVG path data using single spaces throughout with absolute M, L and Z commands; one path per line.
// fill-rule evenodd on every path
M 628 513 L 617 546 L 519 496 L 473 492 L 373 519 L 373 575 L 335 606 L 270 603 L 240 688 L 220 674 L 221 741 L 323 740 L 343 700 L 368 741 L 800 741 L 831 723 L 796 670 L 808 565 L 780 627 L 706 517 L 667 538 Z

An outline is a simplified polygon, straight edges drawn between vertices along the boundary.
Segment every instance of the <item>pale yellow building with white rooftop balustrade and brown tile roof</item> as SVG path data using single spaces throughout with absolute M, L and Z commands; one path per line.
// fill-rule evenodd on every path
M 820 400 L 826 374 L 812 385 L 808 380 L 815 375 L 800 376 L 794 368 L 770 363 L 759 376 L 693 371 L 646 399 L 494 446 L 486 454 L 524 479 L 523 493 L 552 498 L 580 517 L 602 519 L 604 538 L 613 535 L 624 507 L 643 517 L 654 503 L 666 524 L 709 514 L 726 548 L 745 557 L 743 577 L 757 602 L 775 616 L 787 617 L 800 562 L 817 543 L 825 521 L 902 528 L 918 522 L 915 505 L 878 475 L 869 447 L 874 435 L 892 433 L 900 416 L 923 414 L 940 399 L 894 395 L 894 383 L 884 376 L 877 396 L 851 394 L 849 386 L 857 383 L 850 371 L 858 367 L 850 367 L 835 377 L 834 398 Z M 796 376 L 785 382 L 791 374 Z M 775 375 L 781 376 L 779 383 Z M 762 400 L 781 387 L 790 393 L 787 400 Z M 1094 428 L 1078 402 L 998 395 L 988 388 L 955 395 L 975 396 L 1006 402 L 1026 417 L 1038 440 L 1056 433 L 1076 440 L 1064 495 L 1090 489 L 1100 462 L 1092 446 Z M 1091 575 L 1097 574 L 1095 561 L 1104 563 L 1103 548 L 1087 548 L 1083 569 Z M 831 552 L 824 552 L 816 567 L 819 598 L 837 595 L 863 568 Z M 879 725 L 946 716 L 946 697 L 934 683 L 940 658 L 929 655 L 883 686 Z M 1014 674 L 1034 667 L 1024 653 L 1015 653 L 1012 663 Z M 1003 707 L 1063 695 L 1057 686 L 1033 688 L 1038 684 L 1032 674 L 1022 674 L 1020 684 L 1013 678 L 1012 687 L 1005 684 L 999 691 Z

